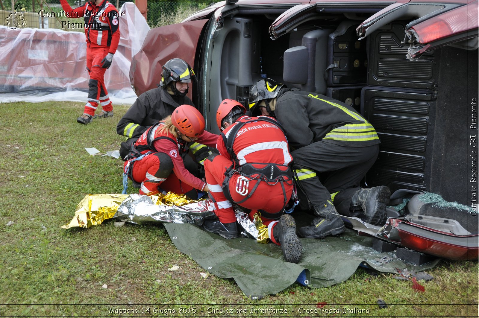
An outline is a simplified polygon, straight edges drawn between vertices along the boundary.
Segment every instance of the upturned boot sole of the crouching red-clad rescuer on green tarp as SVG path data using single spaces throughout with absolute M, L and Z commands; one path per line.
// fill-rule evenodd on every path
M 284 214 L 273 227 L 274 240 L 281 245 L 285 260 L 297 263 L 301 258 L 303 247 L 296 235 L 295 219 L 289 214 Z

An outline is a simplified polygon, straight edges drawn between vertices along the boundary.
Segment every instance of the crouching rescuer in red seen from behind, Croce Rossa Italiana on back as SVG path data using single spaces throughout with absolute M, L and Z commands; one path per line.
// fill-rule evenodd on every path
M 291 198 L 292 160 L 281 125 L 267 116 L 249 117 L 244 106 L 224 100 L 218 107 L 219 154 L 205 160 L 209 194 L 215 201 L 217 219 L 206 219 L 206 231 L 223 238 L 237 238 L 232 203 L 250 209 L 250 219 L 259 212 L 269 238 L 281 245 L 286 261 L 297 263 L 301 241 L 290 215 L 283 214 Z

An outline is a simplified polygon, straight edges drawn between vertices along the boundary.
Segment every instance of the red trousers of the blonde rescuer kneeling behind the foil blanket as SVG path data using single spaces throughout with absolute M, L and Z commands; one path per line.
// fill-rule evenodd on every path
M 154 195 L 160 193 L 158 187 L 167 192 L 187 193 L 193 187 L 180 179 L 172 170 L 171 159 L 166 154 L 158 152 L 149 154 L 141 160 L 133 162 L 133 179 L 141 183 L 138 193 Z M 162 164 L 162 160 L 164 160 Z M 127 161 L 125 161 L 125 166 Z

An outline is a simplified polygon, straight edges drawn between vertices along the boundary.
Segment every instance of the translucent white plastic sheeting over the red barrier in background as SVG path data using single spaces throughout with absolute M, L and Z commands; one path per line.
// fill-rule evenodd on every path
M 131 59 L 148 31 L 136 5 L 123 4 L 120 42 L 112 66 L 105 73 L 108 94 L 116 104 L 136 100 L 128 73 Z M 88 80 L 85 34 L 0 26 L 0 102 L 86 102 Z

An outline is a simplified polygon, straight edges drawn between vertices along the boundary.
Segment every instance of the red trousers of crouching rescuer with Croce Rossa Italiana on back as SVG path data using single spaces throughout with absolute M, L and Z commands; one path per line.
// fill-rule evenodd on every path
M 236 216 L 233 211 L 231 202 L 228 201 L 221 185 L 223 184 L 226 176 L 225 172 L 233 164 L 231 160 L 228 160 L 224 156 L 218 155 L 213 161 L 209 159 L 205 160 L 205 177 L 206 183 L 208 184 L 210 195 L 216 201 L 215 214 L 218 216 L 218 219 L 221 223 L 231 223 L 236 222 Z M 236 192 L 236 182 L 240 175 L 235 173 L 231 176 L 228 182 L 229 193 L 234 202 L 239 202 L 243 200 L 246 196 L 243 196 Z M 251 209 L 250 218 L 254 215 L 256 210 L 263 210 L 267 213 L 277 213 L 280 212 L 285 206 L 285 194 L 286 200 L 291 198 L 291 193 L 293 191 L 293 185 L 287 185 L 283 183 L 285 187 L 285 194 L 283 193 L 283 188 L 281 183 L 277 182 L 274 185 L 268 184 L 265 181 L 252 180 L 249 182 L 249 189 L 253 189 L 256 182 L 260 182 L 256 187 L 256 190 L 253 192 L 251 197 L 240 203 L 242 207 Z M 249 193 L 248 193 L 249 194 Z M 262 217 L 262 222 L 264 225 L 268 225 L 273 220 Z

